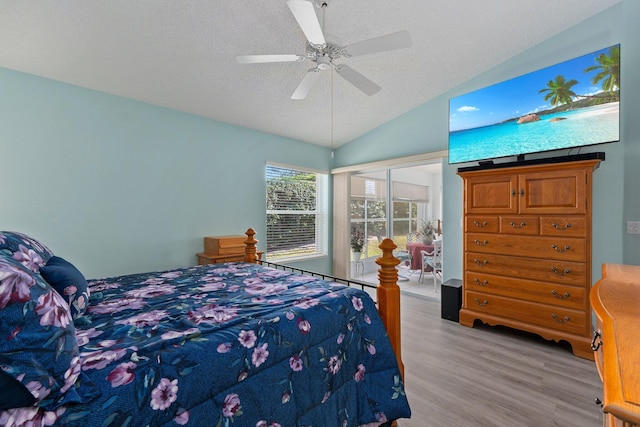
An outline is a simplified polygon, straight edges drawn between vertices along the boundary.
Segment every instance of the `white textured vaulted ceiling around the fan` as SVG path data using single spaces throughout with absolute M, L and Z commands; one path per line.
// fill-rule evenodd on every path
M 0 0 L 0 67 L 338 147 L 619 1 L 329 0 L 343 45 L 412 36 L 339 60 L 382 87 L 370 97 L 329 70 L 294 101 L 311 62 L 236 63 L 304 54 L 285 0 Z

